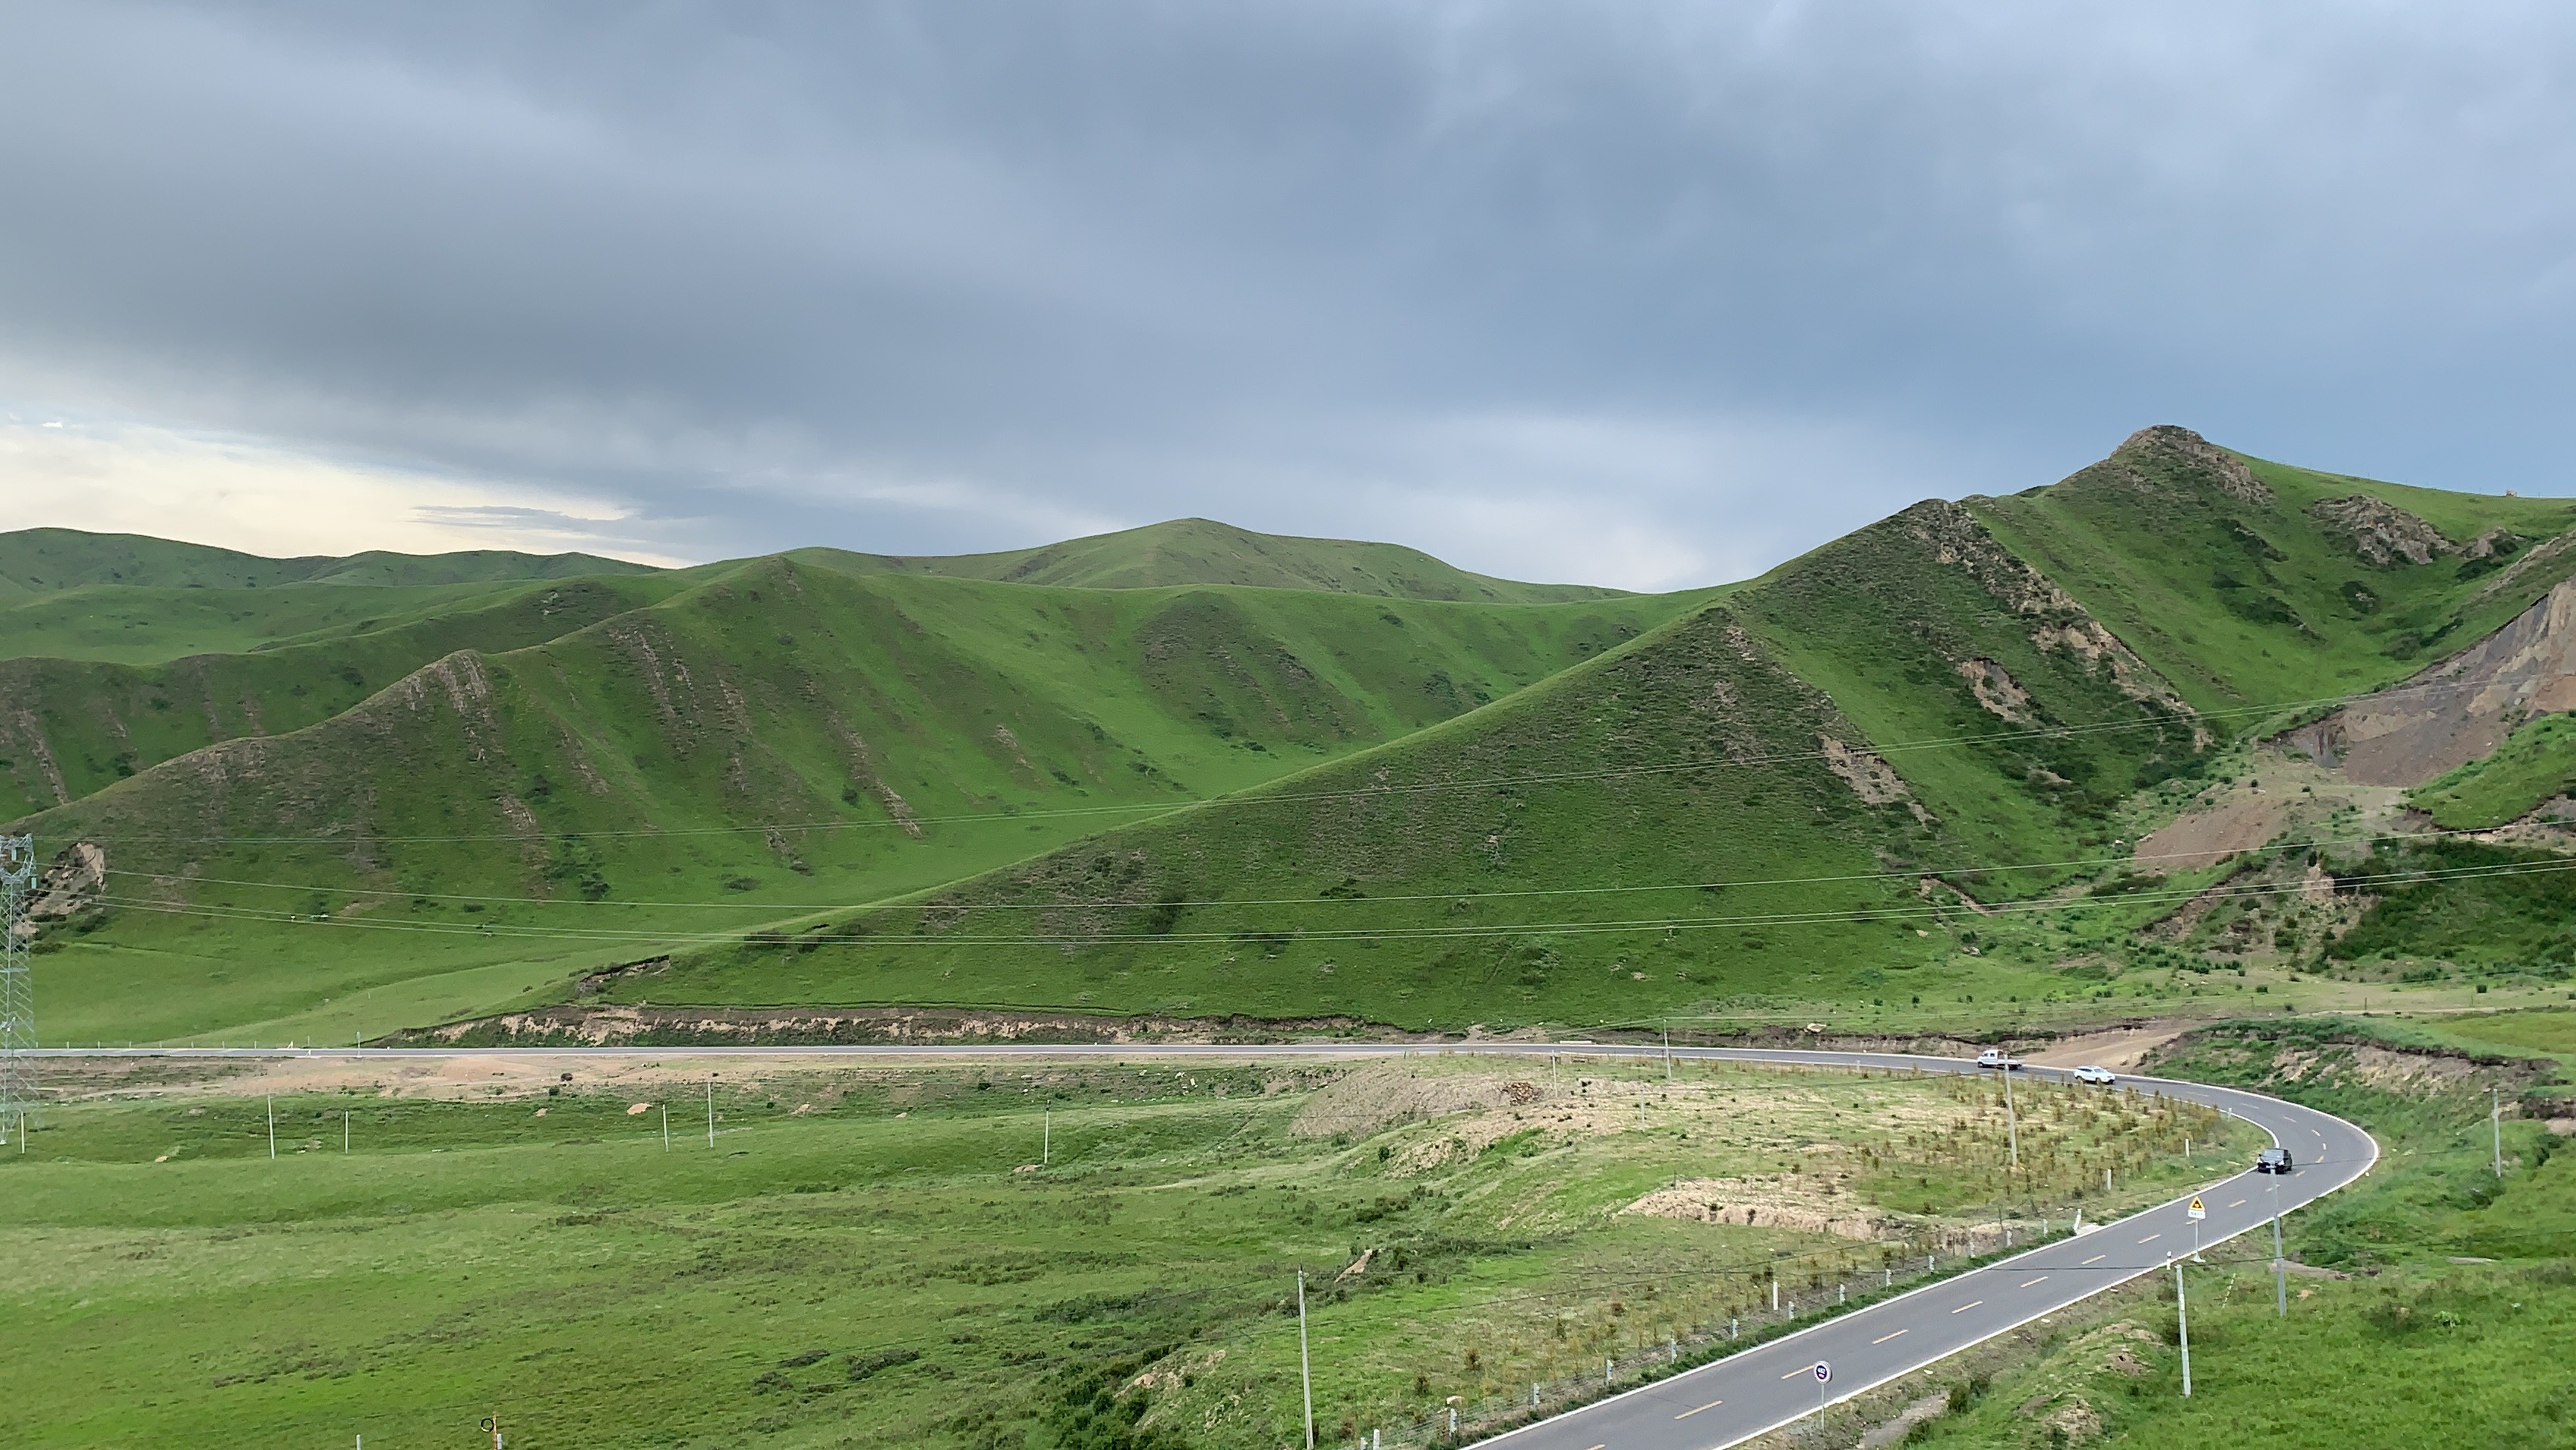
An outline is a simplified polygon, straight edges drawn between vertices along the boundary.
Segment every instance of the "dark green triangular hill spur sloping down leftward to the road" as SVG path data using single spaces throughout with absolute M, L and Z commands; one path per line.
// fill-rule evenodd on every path
M 1886 855 L 1935 855 L 1942 834 L 1880 788 L 1883 762 L 1824 739 L 1857 729 L 1708 605 L 1394 744 L 912 907 L 685 953 L 603 997 L 1504 1028 L 1783 979 L 1865 994 L 1950 950 L 1868 919 L 1914 896 Z M 1780 878 L 1816 881 L 1749 886 Z

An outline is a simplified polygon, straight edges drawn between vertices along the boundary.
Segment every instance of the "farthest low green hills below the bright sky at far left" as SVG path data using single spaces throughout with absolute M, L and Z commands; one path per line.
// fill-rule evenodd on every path
M 350 554 L 260 559 L 206 543 L 142 533 L 21 528 L 0 533 L 0 590 L 49 595 L 82 585 L 160 590 L 273 590 L 281 585 L 479 585 L 495 579 L 567 579 L 574 574 L 649 574 L 649 564 L 598 554 Z M 0 598 L 5 598 L 0 595 Z

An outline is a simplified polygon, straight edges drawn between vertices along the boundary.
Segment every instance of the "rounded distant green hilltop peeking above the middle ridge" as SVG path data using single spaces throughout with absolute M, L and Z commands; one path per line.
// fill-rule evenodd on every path
M 1231 523 L 1180 518 L 1072 538 L 1007 554 L 891 556 L 806 551 L 850 572 L 951 574 L 1010 585 L 1074 585 L 1084 590 L 1157 590 L 1170 585 L 1252 585 L 1262 590 L 1329 590 L 1396 600 L 1463 600 L 1543 605 L 1620 598 L 1592 585 L 1520 585 L 1443 564 L 1399 543 L 1291 538 Z

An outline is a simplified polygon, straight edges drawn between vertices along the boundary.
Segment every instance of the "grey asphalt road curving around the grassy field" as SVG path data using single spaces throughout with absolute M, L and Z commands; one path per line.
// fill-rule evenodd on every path
M 829 1056 L 829 1059 L 1342 1059 L 1342 1056 L 1548 1056 L 1587 1053 L 1656 1059 L 1662 1046 L 1628 1043 L 1280 1043 L 1280 1046 L 1200 1046 L 1200 1043 L 1002 1043 L 1002 1046 L 801 1046 L 801 1048 L 103 1048 L 44 1051 L 41 1056 L 206 1056 L 206 1059 L 696 1059 L 696 1056 Z M 1762 1061 L 1783 1066 L 1844 1066 L 1893 1071 L 1976 1074 L 1965 1059 L 1909 1053 L 1829 1053 L 1795 1048 L 1669 1048 L 1680 1061 Z M 2071 1082 L 2063 1069 L 2022 1069 L 2025 1077 Z M 2290 1213 L 2370 1172 L 2380 1146 L 2362 1128 L 2233 1087 L 2125 1077 L 2123 1087 L 2223 1107 L 2267 1131 L 2290 1149 L 2295 1172 L 2257 1174 L 2251 1169 L 2218 1180 L 2197 1192 L 2208 1218 L 2195 1223 L 2184 1205 L 2192 1195 L 2133 1213 L 2115 1223 L 2058 1239 L 2025 1254 L 1955 1275 L 1896 1298 L 1855 1308 L 1795 1334 L 1785 1334 L 1741 1355 L 1728 1355 L 1698 1370 L 1654 1380 L 1633 1391 L 1571 1409 L 1553 1419 L 1512 1429 L 1486 1445 L 1510 1450 L 1723 1450 L 1829 1404 L 1852 1398 L 1893 1378 L 1922 1370 L 1984 1339 L 2056 1313 L 2081 1298 L 2161 1270 L 2195 1247 L 2223 1244 L 2262 1229 L 2272 1213 Z M 1819 1383 L 1824 1362 L 1832 1378 Z

